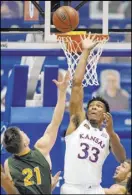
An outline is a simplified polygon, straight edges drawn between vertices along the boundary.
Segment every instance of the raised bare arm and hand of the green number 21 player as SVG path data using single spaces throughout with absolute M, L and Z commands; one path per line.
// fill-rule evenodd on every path
M 51 123 L 48 125 L 44 135 L 35 144 L 35 147 L 41 150 L 44 155 L 47 155 L 50 152 L 56 141 L 58 129 L 65 111 L 66 89 L 68 87 L 69 80 L 69 72 L 67 72 L 62 82 L 53 80 L 53 82 L 58 87 L 58 101 L 53 113 Z

